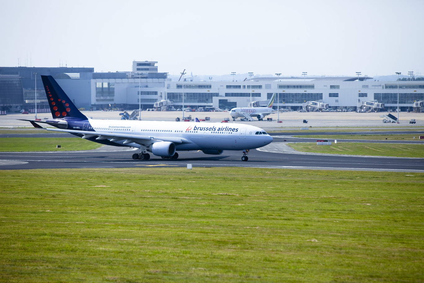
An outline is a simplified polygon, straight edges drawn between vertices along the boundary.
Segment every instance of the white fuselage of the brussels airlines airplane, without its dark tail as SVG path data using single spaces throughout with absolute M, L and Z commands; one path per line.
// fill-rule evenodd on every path
M 268 108 L 269 109 L 269 108 Z M 238 123 L 195 123 L 195 122 L 168 122 L 168 121 L 131 121 L 131 120 L 88 120 L 82 131 L 109 132 L 129 134 L 134 139 L 140 136 L 150 137 L 152 140 L 170 140 L 181 138 L 186 143 L 176 143 L 176 150 L 244 150 L 266 146 L 273 138 L 263 129 L 255 126 Z M 90 129 L 92 128 L 92 129 Z M 140 148 L 137 143 L 124 143 L 119 140 L 115 143 Z

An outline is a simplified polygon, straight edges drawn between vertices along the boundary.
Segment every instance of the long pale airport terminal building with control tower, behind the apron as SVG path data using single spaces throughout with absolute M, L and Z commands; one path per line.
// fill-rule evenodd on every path
M 332 109 L 354 109 L 366 101 L 383 103 L 385 109 L 412 110 L 414 101 L 424 101 L 424 81 L 375 81 L 370 77 L 252 77 L 245 81 L 192 81 L 181 78 L 172 81 L 166 73 L 159 73 L 157 62 L 132 62 L 132 70 L 116 73 L 95 73 L 93 68 L 35 68 L 0 67 L 0 107 L 16 107 L 3 103 L 11 90 L 6 81 L 22 88 L 22 107 L 35 104 L 35 76 L 37 76 L 37 108 L 48 108 L 40 75 L 51 75 L 74 101 L 78 108 L 153 108 L 156 101 L 169 100 L 175 109 L 183 107 L 217 107 L 231 109 L 248 106 L 250 101 L 266 104 L 277 93 L 274 108 L 298 110 L 307 101 L 322 101 Z M 37 75 L 32 75 L 38 73 Z M 21 78 L 21 83 L 19 79 Z M 10 100 L 10 99 L 9 99 Z

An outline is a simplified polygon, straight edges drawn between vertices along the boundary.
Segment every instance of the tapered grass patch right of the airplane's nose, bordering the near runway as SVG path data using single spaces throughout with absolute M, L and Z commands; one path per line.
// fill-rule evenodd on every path
M 289 143 L 288 146 L 303 152 L 349 154 L 368 156 L 420 157 L 424 158 L 424 144 L 402 143 L 332 143 L 324 146 L 315 143 Z

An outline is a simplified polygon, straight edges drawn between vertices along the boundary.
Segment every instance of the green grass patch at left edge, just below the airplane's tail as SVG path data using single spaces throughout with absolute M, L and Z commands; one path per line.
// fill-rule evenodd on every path
M 57 149 L 56 146 L 61 148 Z M 74 137 L 0 137 L 0 151 L 69 151 L 98 149 L 100 143 Z

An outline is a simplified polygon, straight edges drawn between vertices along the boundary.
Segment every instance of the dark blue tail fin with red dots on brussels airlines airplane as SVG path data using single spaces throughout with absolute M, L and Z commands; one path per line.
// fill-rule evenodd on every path
M 47 101 L 49 102 L 53 118 L 72 117 L 84 120 L 87 119 L 87 117 L 72 103 L 70 98 L 52 76 L 41 76 L 41 79 L 44 84 Z

